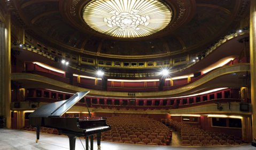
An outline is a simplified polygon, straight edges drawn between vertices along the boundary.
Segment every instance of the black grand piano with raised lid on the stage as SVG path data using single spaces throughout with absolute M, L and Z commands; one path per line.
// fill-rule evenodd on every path
M 86 150 L 89 149 L 89 136 L 90 136 L 90 149 L 93 149 L 94 135 L 97 135 L 97 145 L 100 149 L 100 136 L 101 132 L 110 130 L 111 126 L 106 124 L 104 118 L 77 118 L 77 117 L 61 117 L 73 105 L 86 96 L 89 91 L 81 91 L 74 94 L 67 100 L 50 103 L 39 107 L 29 115 L 29 123 L 31 126 L 36 127 L 36 143 L 39 140 L 40 127 L 56 128 L 62 134 L 69 138 L 70 149 L 75 149 L 76 137 L 86 137 Z

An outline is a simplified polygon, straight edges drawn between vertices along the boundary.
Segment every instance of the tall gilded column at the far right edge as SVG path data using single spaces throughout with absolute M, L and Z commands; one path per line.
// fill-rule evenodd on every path
M 252 138 L 256 138 L 256 1 L 251 1 L 250 9 L 250 66 L 252 99 Z

